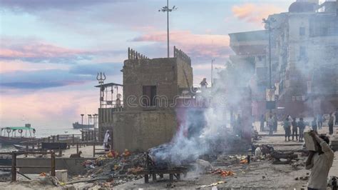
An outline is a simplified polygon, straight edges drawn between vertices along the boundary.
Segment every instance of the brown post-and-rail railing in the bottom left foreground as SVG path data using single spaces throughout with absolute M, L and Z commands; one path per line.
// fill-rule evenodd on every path
M 46 152 L 46 151 L 26 151 L 26 152 L 18 152 L 18 151 L 12 151 L 12 152 L 0 152 L 0 154 L 6 154 L 11 155 L 11 166 L 0 166 L 0 168 L 11 168 L 11 181 L 16 181 L 16 173 L 19 171 L 16 171 L 16 169 L 20 168 L 50 168 L 51 169 L 51 176 L 55 176 L 55 154 L 54 151 Z M 51 154 L 51 166 L 17 166 L 16 165 L 16 156 L 20 154 Z M 21 173 L 19 173 L 21 174 Z M 24 174 L 21 174 L 25 176 Z M 28 178 L 27 176 L 25 176 Z

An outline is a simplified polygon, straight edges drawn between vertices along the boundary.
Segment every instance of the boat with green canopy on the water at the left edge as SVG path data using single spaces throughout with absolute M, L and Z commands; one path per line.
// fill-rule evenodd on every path
M 18 134 L 16 133 L 18 132 Z M 22 141 L 31 141 L 35 139 L 36 130 L 31 124 L 25 126 L 6 126 L 1 128 L 0 144 L 13 145 Z

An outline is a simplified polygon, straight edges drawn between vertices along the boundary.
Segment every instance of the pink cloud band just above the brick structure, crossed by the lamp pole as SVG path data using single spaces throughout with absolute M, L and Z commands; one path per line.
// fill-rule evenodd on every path
M 150 31 L 133 41 L 165 42 L 166 31 Z M 170 44 L 190 54 L 190 56 L 226 57 L 229 54 L 229 36 L 213 34 L 193 34 L 191 31 L 170 31 Z

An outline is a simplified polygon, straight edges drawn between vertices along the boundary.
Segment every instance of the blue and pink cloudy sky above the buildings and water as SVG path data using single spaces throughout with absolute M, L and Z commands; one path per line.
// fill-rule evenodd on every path
M 291 0 L 170 0 L 173 46 L 192 59 L 194 83 L 234 54 L 227 34 L 263 29 Z M 96 74 L 122 84 L 128 47 L 165 57 L 165 0 L 0 0 L 0 126 L 71 128 L 99 106 Z M 86 121 L 86 120 L 85 120 Z

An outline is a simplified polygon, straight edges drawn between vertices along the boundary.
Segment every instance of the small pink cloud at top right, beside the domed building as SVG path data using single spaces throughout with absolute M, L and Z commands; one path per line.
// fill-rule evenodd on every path
M 238 19 L 262 24 L 262 19 L 267 18 L 270 14 L 280 13 L 282 9 L 277 6 L 268 4 L 241 4 L 232 6 L 232 13 Z

